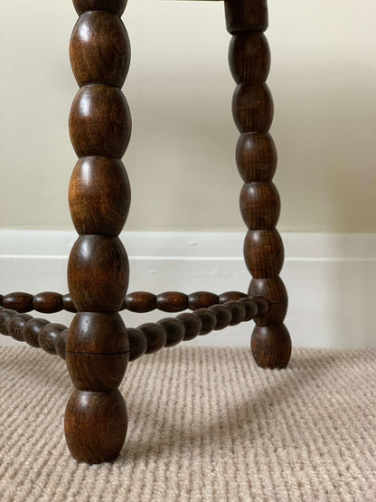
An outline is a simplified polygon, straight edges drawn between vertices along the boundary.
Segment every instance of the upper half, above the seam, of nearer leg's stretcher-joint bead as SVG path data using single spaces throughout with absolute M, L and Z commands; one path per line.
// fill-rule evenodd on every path
M 66 352 L 119 354 L 129 352 L 127 328 L 118 312 L 78 312 L 71 321 Z

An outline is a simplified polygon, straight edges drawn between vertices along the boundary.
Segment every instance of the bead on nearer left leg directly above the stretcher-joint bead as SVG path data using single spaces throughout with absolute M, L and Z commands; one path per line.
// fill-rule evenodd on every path
M 118 237 L 81 235 L 68 263 L 74 305 L 86 312 L 118 312 L 127 292 L 127 252 Z

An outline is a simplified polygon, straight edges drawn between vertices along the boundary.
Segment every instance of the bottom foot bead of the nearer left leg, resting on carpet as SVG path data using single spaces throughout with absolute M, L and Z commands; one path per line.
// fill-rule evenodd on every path
M 118 390 L 74 391 L 65 410 L 65 437 L 74 459 L 96 464 L 113 460 L 127 435 L 127 407 Z

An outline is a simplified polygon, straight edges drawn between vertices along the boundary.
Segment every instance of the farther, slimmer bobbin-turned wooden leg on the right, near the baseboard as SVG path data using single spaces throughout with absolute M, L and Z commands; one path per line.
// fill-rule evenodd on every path
M 287 290 L 279 272 L 284 260 L 283 243 L 276 230 L 280 203 L 272 183 L 277 152 L 268 134 L 273 119 L 273 100 L 265 81 L 270 52 L 262 33 L 268 28 L 267 0 L 225 0 L 230 42 L 230 71 L 237 83 L 232 113 L 240 130 L 237 164 L 244 180 L 240 211 L 249 231 L 244 258 L 253 279 L 249 296 L 268 299 L 268 313 L 255 318 L 251 338 L 255 361 L 262 367 L 285 367 L 291 355 L 291 339 L 283 320 Z

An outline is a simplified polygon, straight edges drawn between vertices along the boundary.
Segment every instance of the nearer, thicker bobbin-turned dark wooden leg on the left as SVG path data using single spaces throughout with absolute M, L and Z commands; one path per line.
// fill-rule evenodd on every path
M 127 0 L 73 0 L 80 18 L 71 35 L 71 67 L 80 85 L 71 107 L 71 142 L 79 156 L 69 191 L 80 234 L 71 251 L 68 284 L 78 309 L 66 361 L 76 387 L 65 412 L 75 459 L 115 459 L 127 434 L 127 408 L 118 385 L 129 357 L 118 310 L 128 284 L 127 252 L 118 234 L 127 220 L 130 189 L 120 160 L 131 119 L 121 92 L 130 60 L 120 20 Z

